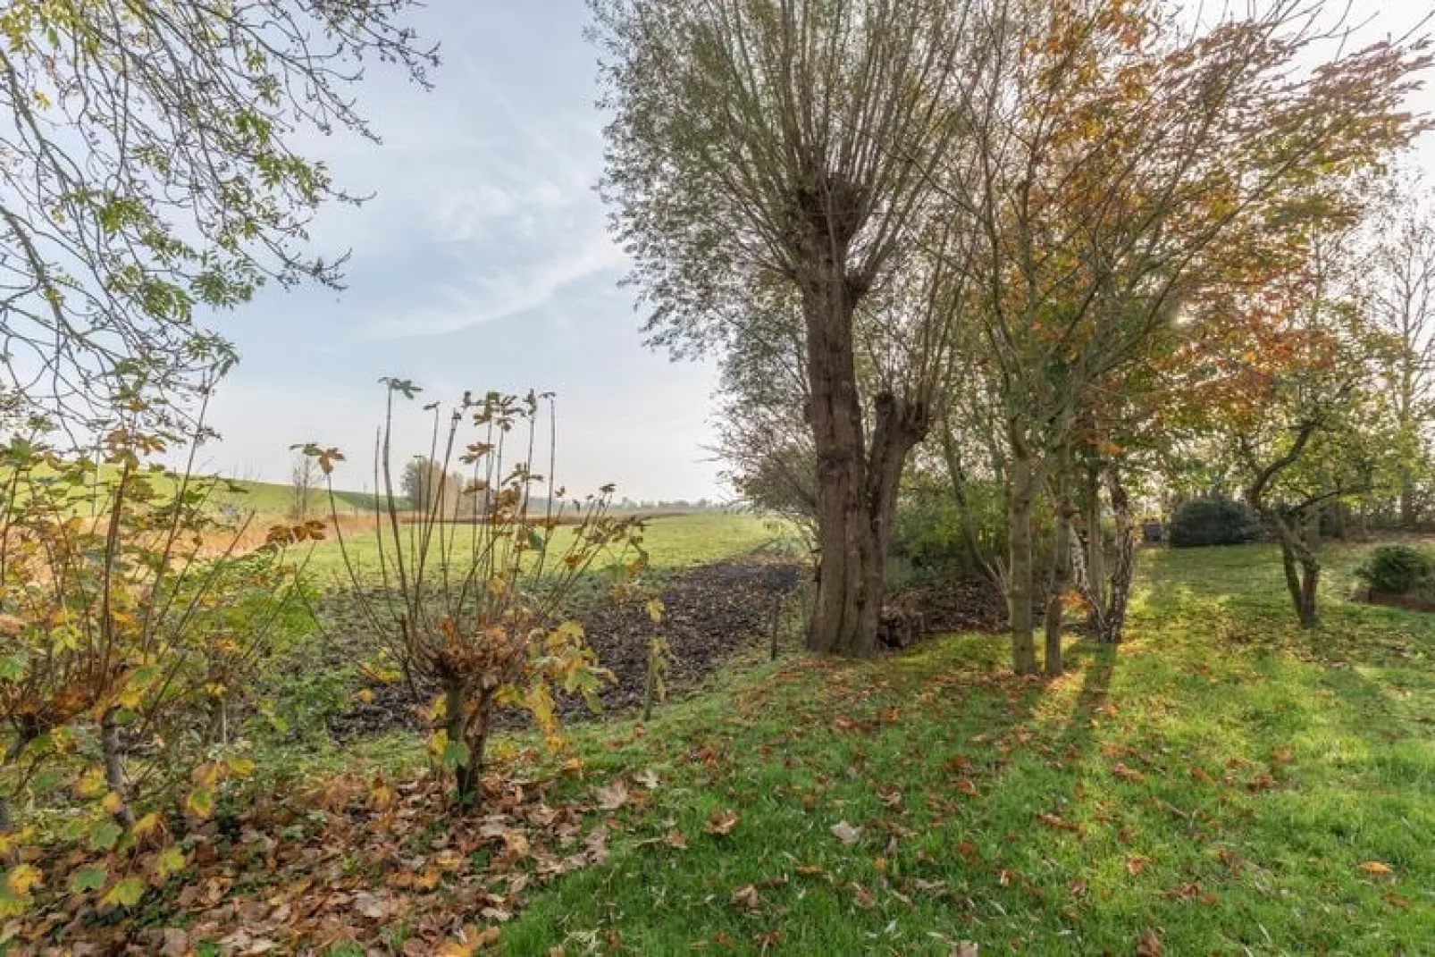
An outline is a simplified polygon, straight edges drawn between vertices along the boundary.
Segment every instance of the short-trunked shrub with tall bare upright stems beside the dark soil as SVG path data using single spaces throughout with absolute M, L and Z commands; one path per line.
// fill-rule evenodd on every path
M 471 806 L 497 707 L 527 709 L 552 740 L 554 687 L 596 706 L 596 692 L 611 674 L 570 611 L 604 565 L 616 597 L 630 590 L 646 564 L 641 524 L 611 515 L 611 486 L 564 502 L 552 481 L 551 396 L 532 392 L 465 393 L 448 413 L 446 430 L 439 403 L 428 406 L 435 488 L 415 515 L 400 519 L 408 499 L 395 482 L 395 400 L 412 399 L 419 387 L 383 382 L 389 400 L 375 465 L 377 568 L 360 567 L 342 534 L 337 542 L 353 603 L 409 687 L 435 692 L 429 749 L 439 773 L 452 775 L 458 803 Z M 330 478 L 343 455 L 313 443 L 304 452 L 317 461 L 337 517 Z M 542 475 L 534 468 L 541 453 L 548 456 Z M 475 504 L 474 517 L 458 508 L 459 498 Z

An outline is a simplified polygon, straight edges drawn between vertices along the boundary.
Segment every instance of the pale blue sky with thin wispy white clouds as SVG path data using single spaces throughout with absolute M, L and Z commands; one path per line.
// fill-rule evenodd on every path
M 1405 33 L 1421 0 L 1353 0 L 1362 37 Z M 317 250 L 349 250 L 346 288 L 265 290 L 214 320 L 243 360 L 211 406 L 222 440 L 205 471 L 287 481 L 291 445 L 349 455 L 336 479 L 367 486 L 382 376 L 425 389 L 400 420 L 402 455 L 426 451 L 419 406 L 464 390 L 557 393 L 558 473 L 573 492 L 614 482 L 634 499 L 723 498 L 707 451 L 709 362 L 643 344 L 629 264 L 596 194 L 604 118 L 583 0 L 432 0 L 415 23 L 441 44 L 425 92 L 375 65 L 359 86 L 382 145 L 306 139 L 340 185 Z M 1435 112 L 1435 92 L 1416 109 Z M 1435 175 L 1435 138 L 1416 164 Z

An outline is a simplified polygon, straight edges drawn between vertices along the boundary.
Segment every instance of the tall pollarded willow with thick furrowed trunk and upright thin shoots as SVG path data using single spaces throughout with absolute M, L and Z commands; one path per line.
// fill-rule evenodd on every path
M 976 0 L 594 0 L 604 194 L 653 341 L 722 349 L 796 300 L 817 461 L 811 647 L 871 654 L 897 484 L 927 433 L 970 235 L 941 217 Z M 861 370 L 861 374 L 860 374 Z

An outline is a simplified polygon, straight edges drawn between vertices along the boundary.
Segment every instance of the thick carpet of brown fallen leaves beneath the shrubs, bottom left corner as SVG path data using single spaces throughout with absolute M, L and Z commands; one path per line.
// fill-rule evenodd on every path
M 139 882 L 138 907 L 50 890 L 70 887 L 80 859 L 55 854 L 37 862 L 36 907 L 6 927 L 6 953 L 296 953 L 395 934 L 405 954 L 471 953 L 501 937 L 531 888 L 601 864 L 610 825 L 596 814 L 620 803 L 613 785 L 594 803 L 558 799 L 554 778 L 484 783 L 474 812 L 432 778 L 280 791 L 192 826 L 185 869 Z

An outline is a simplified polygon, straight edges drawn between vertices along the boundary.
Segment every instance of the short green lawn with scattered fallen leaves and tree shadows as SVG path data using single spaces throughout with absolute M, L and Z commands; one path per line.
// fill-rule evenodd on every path
M 1435 618 L 1346 601 L 1359 550 L 1330 558 L 1313 633 L 1269 548 L 1148 552 L 1129 641 L 1056 682 L 953 636 L 583 729 L 573 786 L 631 795 L 613 854 L 501 946 L 1431 953 Z

